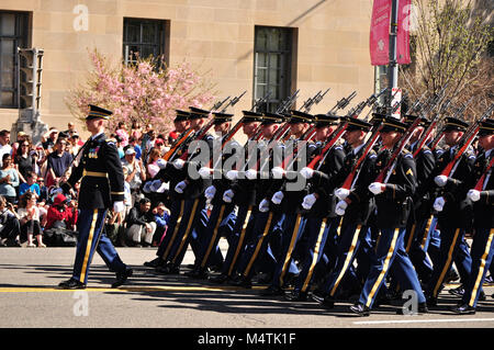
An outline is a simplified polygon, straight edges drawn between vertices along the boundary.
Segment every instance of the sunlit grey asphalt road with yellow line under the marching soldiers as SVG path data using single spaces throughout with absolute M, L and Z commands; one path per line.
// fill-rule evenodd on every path
M 184 275 L 160 275 L 143 266 L 156 248 L 117 248 L 134 268 L 128 284 L 112 290 L 114 274 L 96 256 L 88 289 L 63 291 L 56 285 L 70 276 L 75 248 L 0 249 L 1 328 L 164 328 L 245 329 L 282 328 L 492 328 L 493 286 L 485 286 L 487 301 L 475 315 L 456 316 L 448 307 L 456 298 L 447 290 L 439 307 L 426 315 L 398 316 L 396 306 L 383 306 L 370 317 L 357 317 L 339 304 L 322 309 L 308 301 L 290 304 L 282 297 L 259 296 L 259 289 L 215 286 Z M 193 262 L 188 251 L 183 266 Z M 186 269 L 182 269 L 186 270 Z

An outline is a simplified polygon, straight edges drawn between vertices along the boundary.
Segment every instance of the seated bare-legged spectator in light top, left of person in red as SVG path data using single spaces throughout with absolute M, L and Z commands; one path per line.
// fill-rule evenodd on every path
M 21 234 L 27 236 L 27 247 L 36 247 L 33 241 L 33 236 L 36 236 L 37 247 L 46 247 L 43 244 L 40 208 L 36 206 L 36 195 L 34 193 L 26 192 L 19 199 L 18 215 L 21 224 Z

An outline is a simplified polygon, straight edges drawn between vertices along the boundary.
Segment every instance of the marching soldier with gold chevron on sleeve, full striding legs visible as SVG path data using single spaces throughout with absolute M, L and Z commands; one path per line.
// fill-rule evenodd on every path
M 394 149 L 406 131 L 406 124 L 395 118 L 386 118 L 381 128 L 383 149 L 375 159 L 378 176 L 391 159 Z M 409 151 L 403 149 L 396 158 L 395 167 L 385 174 L 383 182 L 372 182 L 369 191 L 375 197 L 375 225 L 381 234 L 377 245 L 377 259 L 370 268 L 358 302 L 350 311 L 359 316 L 369 316 L 390 267 L 396 262 L 396 276 L 404 290 L 413 290 L 417 295 L 418 312 L 426 313 L 426 298 L 415 269 L 409 260 L 403 237 L 412 208 L 412 196 L 417 187 L 416 166 Z M 375 180 L 374 180 L 375 181 Z

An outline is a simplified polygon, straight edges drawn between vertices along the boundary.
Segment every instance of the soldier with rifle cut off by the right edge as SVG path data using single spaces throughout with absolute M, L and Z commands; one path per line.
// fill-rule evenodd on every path
M 473 165 L 467 196 L 473 202 L 474 236 L 471 249 L 472 270 L 464 284 L 461 303 L 452 307 L 459 315 L 474 314 L 494 249 L 494 120 L 480 123 L 479 145 L 482 151 Z

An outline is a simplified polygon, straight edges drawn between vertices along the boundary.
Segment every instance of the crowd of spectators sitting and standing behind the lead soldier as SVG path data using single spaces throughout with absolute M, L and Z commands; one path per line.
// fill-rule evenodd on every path
M 10 132 L 0 131 L 0 247 L 75 244 L 78 193 L 60 193 L 60 184 L 70 177 L 72 159 L 85 140 L 74 123 L 67 126 L 63 132 L 50 127 L 36 145 L 23 132 L 11 142 Z M 109 136 L 122 160 L 126 211 L 109 212 L 106 235 L 119 247 L 156 247 L 166 235 L 170 213 L 166 193 L 161 189 L 157 195 L 159 189 L 151 184 L 159 171 L 156 161 L 176 133 L 164 137 L 151 125 L 120 123 Z M 57 235 L 76 239 L 54 239 Z

